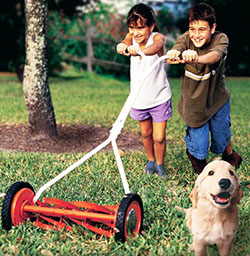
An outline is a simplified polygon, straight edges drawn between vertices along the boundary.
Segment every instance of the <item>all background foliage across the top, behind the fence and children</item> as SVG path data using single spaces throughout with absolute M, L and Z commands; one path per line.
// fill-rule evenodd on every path
M 200 1 L 193 1 L 200 2 Z M 248 2 L 247 0 L 241 1 L 239 5 L 234 0 L 204 0 L 208 2 L 216 10 L 217 14 L 217 29 L 225 32 L 230 41 L 229 55 L 227 61 L 227 72 L 234 76 L 249 76 L 249 45 L 250 34 L 242 33 L 248 31 Z M 105 28 L 102 31 L 96 30 L 96 35 L 99 37 L 110 37 L 115 40 L 114 45 L 97 44 L 95 45 L 95 57 L 105 58 L 107 60 L 117 61 L 119 63 L 129 63 L 129 58 L 118 56 L 115 51 L 115 45 L 118 43 L 126 32 L 125 17 L 118 19 L 115 23 L 114 17 L 117 14 L 110 6 L 100 3 L 98 0 L 93 1 L 67 1 L 67 0 L 49 0 L 49 27 L 48 27 L 48 59 L 49 71 L 53 73 L 61 69 L 63 53 L 73 52 L 75 56 L 85 56 L 86 43 L 76 42 L 73 40 L 62 40 L 61 33 L 65 29 L 71 34 L 71 29 L 76 29 L 76 20 L 81 20 L 81 25 L 78 24 L 80 35 L 86 35 L 86 24 L 93 26 L 102 25 Z M 75 6 L 79 3 L 85 6 L 94 5 L 94 8 L 87 14 L 76 16 Z M 132 4 L 132 3 L 131 3 Z M 87 8 L 87 7 L 86 7 Z M 89 8 L 89 7 L 88 7 Z M 110 10 L 112 12 L 110 13 Z M 160 31 L 166 33 L 174 33 L 176 29 L 183 31 L 187 30 L 186 19 L 178 21 L 170 15 L 167 9 L 162 9 L 157 14 Z M 177 23 L 175 23 L 177 22 Z M 82 26 L 83 25 L 83 26 Z M 1 28 L 1 41 L 0 48 L 0 70 L 2 71 L 16 71 L 20 65 L 25 62 L 25 3 L 21 0 L 5 1 L 0 9 L 0 28 Z M 98 28 L 98 27 L 96 27 Z M 115 35 L 115 36 L 114 36 Z M 175 37 L 176 38 L 176 37 Z M 167 45 L 168 47 L 168 45 Z M 74 64 L 79 66 L 79 64 Z M 95 67 L 98 73 L 113 73 L 115 72 L 100 67 Z M 173 69 L 173 71 L 172 71 Z M 171 67 L 170 74 L 180 74 L 177 67 Z M 123 75 L 127 75 L 125 72 Z

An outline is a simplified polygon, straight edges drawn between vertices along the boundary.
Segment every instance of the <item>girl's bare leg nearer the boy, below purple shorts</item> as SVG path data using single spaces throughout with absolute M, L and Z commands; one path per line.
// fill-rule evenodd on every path
M 167 121 L 161 123 L 153 123 L 153 142 L 156 164 L 164 163 L 166 153 L 166 126 Z

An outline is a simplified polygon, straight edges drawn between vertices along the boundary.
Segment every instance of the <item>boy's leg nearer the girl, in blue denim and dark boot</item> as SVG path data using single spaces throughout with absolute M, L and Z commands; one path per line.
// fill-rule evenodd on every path
M 207 165 L 207 151 L 209 147 L 209 124 L 192 128 L 186 126 L 185 141 L 186 153 L 192 163 L 193 169 L 200 174 Z

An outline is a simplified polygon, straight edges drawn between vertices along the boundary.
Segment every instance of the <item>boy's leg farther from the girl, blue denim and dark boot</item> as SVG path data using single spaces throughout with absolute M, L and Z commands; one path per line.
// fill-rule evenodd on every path
M 211 151 L 216 154 L 222 153 L 222 160 L 229 162 L 237 169 L 242 158 L 233 150 L 230 126 L 230 101 L 228 100 L 211 118 Z

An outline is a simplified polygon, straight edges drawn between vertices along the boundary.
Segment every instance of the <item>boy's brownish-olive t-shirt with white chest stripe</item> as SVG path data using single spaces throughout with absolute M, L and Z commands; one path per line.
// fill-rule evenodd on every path
M 182 77 L 182 94 L 178 105 L 179 113 L 190 127 L 200 127 L 227 102 L 230 92 L 225 87 L 225 61 L 227 56 L 228 37 L 215 32 L 211 41 L 201 48 L 196 48 L 184 33 L 175 43 L 173 49 L 181 52 L 191 49 L 198 55 L 217 51 L 219 62 L 208 64 L 185 64 Z

